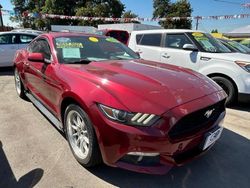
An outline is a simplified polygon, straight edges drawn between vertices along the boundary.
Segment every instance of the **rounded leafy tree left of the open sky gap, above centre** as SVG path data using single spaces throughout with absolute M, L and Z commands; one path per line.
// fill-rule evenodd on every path
M 125 5 L 120 0 L 87 0 L 84 6 L 76 9 L 76 16 L 121 18 Z M 84 20 L 80 25 L 97 26 L 98 24 L 115 23 L 103 20 Z

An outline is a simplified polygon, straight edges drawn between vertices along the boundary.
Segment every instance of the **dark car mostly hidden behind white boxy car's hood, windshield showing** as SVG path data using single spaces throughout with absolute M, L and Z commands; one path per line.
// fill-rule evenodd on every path
M 219 40 L 223 45 L 225 45 L 229 50 L 231 50 L 231 52 L 250 54 L 250 48 L 236 41 L 232 41 L 229 39 L 217 39 L 217 40 Z

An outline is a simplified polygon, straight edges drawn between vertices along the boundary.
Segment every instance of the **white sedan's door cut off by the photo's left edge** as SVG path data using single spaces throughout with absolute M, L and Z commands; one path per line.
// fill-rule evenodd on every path
M 0 67 L 13 65 L 13 58 L 18 50 L 18 40 L 15 34 L 0 35 Z

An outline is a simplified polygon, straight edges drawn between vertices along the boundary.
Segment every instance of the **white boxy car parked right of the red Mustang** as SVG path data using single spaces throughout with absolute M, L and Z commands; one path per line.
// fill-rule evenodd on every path
M 196 30 L 133 31 L 128 46 L 141 58 L 198 71 L 228 94 L 227 104 L 250 101 L 250 55 L 231 51 Z

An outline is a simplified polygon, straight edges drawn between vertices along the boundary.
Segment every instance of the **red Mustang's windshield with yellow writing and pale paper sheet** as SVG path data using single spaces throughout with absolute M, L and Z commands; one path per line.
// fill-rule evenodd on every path
M 135 52 L 111 37 L 57 37 L 54 44 L 59 62 L 64 64 L 139 59 Z

